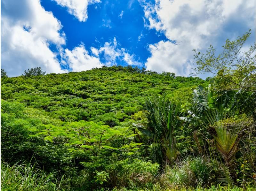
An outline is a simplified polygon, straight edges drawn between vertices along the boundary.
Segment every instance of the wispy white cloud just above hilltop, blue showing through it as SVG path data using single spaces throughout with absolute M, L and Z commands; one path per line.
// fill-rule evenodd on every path
M 117 59 L 123 60 L 128 65 L 142 65 L 142 63 L 135 59 L 134 54 L 131 55 L 127 50 L 120 47 L 116 37 L 114 37 L 113 41 L 105 42 L 104 46 L 99 49 L 92 47 L 91 51 L 95 56 L 99 56 L 101 54 L 104 59 L 104 64 L 107 66 L 116 65 Z

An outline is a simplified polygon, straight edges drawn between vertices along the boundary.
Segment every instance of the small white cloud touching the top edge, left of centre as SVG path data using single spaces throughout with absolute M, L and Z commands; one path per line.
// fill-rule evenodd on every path
M 100 0 L 54 0 L 57 4 L 67 7 L 68 12 L 74 15 L 80 22 L 88 18 L 87 7 L 89 4 L 100 3 Z M 97 8 L 97 6 L 96 6 Z

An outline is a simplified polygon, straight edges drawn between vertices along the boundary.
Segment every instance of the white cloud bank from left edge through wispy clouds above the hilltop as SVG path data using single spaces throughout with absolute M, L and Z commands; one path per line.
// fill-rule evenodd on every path
M 1 67 L 8 76 L 19 76 L 36 66 L 46 73 L 66 73 L 103 64 L 116 65 L 117 60 L 141 65 L 116 38 L 89 51 L 83 43 L 65 49 L 66 38 L 60 21 L 52 12 L 44 10 L 39 0 L 3 0 L 1 10 Z

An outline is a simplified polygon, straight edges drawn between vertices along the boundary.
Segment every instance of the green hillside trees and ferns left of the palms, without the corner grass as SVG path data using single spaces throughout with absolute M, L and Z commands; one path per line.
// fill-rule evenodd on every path
M 2 159 L 34 157 L 65 174 L 65 190 L 152 186 L 162 159 L 132 123 L 145 120 L 148 97 L 166 94 L 186 107 L 199 84 L 208 82 L 131 67 L 2 78 Z

